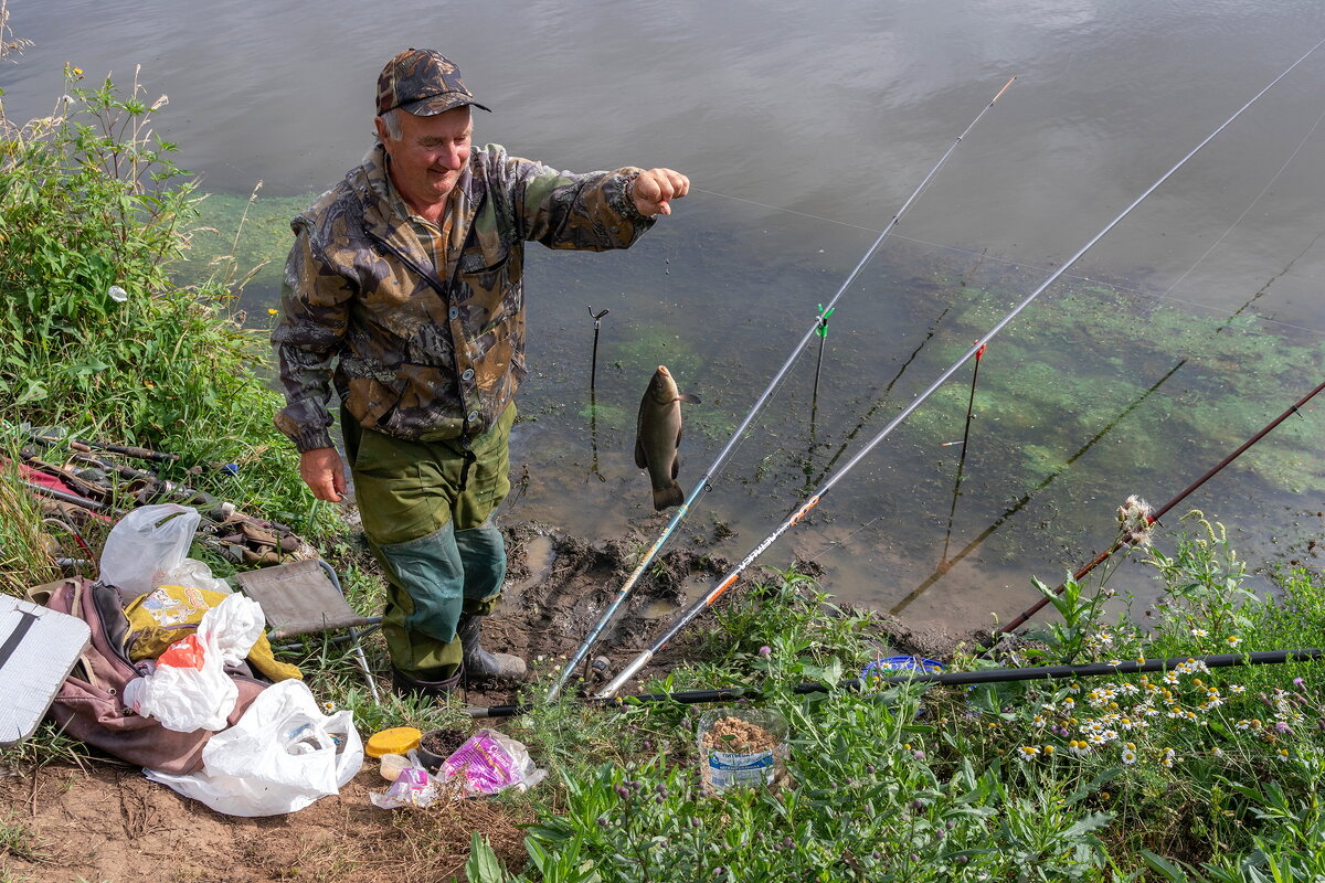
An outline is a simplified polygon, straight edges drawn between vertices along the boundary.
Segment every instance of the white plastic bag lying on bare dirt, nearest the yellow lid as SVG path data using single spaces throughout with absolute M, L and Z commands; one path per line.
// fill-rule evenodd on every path
M 208 740 L 203 769 L 147 778 L 227 815 L 280 815 L 337 794 L 363 765 L 363 741 L 348 711 L 323 715 L 302 680 L 258 694 L 238 723 Z

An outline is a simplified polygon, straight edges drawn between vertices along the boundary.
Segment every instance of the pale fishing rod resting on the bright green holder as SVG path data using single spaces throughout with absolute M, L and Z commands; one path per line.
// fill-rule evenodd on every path
M 791 369 L 791 365 L 795 364 L 796 359 L 800 356 L 800 352 L 806 348 L 806 344 L 808 344 L 815 338 L 815 335 L 819 334 L 820 327 L 823 326 L 823 320 L 820 316 L 825 318 L 828 314 L 833 311 L 833 307 L 836 306 L 837 301 L 841 298 L 843 294 L 845 294 L 847 289 L 851 287 L 851 283 L 856 281 L 856 277 L 860 275 L 860 271 L 865 269 L 865 265 L 878 250 L 878 246 L 884 244 L 884 240 L 888 238 L 888 234 L 893 230 L 893 228 L 897 226 L 897 222 L 901 220 L 902 214 L 906 213 L 906 209 L 910 208 L 910 204 L 914 203 L 916 199 L 921 195 L 921 192 L 929 185 L 934 175 L 938 173 L 938 169 L 942 168 L 943 163 L 947 162 L 947 158 L 951 156 L 953 151 L 957 150 L 957 146 L 962 143 L 962 139 L 966 138 L 966 135 L 969 135 L 973 128 L 975 128 L 975 123 L 980 122 L 980 118 L 988 113 L 988 110 L 994 106 L 994 103 L 1003 95 L 1004 91 L 1007 91 L 1008 86 L 1011 86 L 1014 82 L 1016 82 L 1016 77 L 1012 77 L 1006 83 L 1003 83 L 1003 87 L 999 89 L 998 93 L 994 95 L 994 98 L 990 99 L 990 103 L 986 105 L 980 110 L 980 113 L 975 115 L 975 119 L 973 119 L 971 123 L 962 131 L 962 134 L 957 136 L 957 140 L 954 140 L 951 146 L 949 146 L 949 148 L 939 158 L 938 163 L 934 164 L 934 168 L 931 168 L 929 173 L 925 175 L 924 180 L 921 180 L 920 185 L 914 189 L 914 192 L 912 192 L 912 195 L 906 197 L 906 201 L 902 203 L 902 207 L 900 209 L 897 209 L 897 213 L 893 214 L 892 220 L 886 225 L 884 225 L 884 230 L 878 234 L 878 238 L 874 240 L 874 244 L 869 246 L 869 250 L 865 252 L 865 256 L 860 258 L 860 262 L 856 263 L 856 267 L 847 275 L 847 279 L 837 289 L 836 294 L 832 295 L 832 299 L 828 301 L 827 306 L 820 307 L 820 315 L 815 316 L 815 322 L 810 326 L 810 330 L 804 334 L 804 336 L 800 339 L 796 347 L 791 351 L 791 355 L 783 363 L 782 368 L 779 368 L 778 372 L 772 376 L 772 380 L 768 381 L 768 385 L 765 388 L 763 393 L 755 400 L 754 405 L 750 408 L 750 412 L 745 416 L 745 420 L 742 420 L 741 425 L 737 426 L 737 430 L 731 433 L 731 438 L 727 440 L 727 443 L 722 447 L 721 451 L 718 451 L 718 455 L 714 458 L 708 471 L 705 471 L 704 477 L 698 482 L 696 482 L 694 490 L 692 490 L 690 495 L 686 496 L 685 500 L 681 503 L 681 506 L 677 507 L 676 512 L 672 515 L 672 519 L 668 522 L 666 527 L 662 528 L 662 534 L 659 536 L 657 541 L 653 543 L 652 547 L 649 547 L 649 549 L 644 553 L 644 557 L 635 567 L 635 571 L 632 571 L 629 577 L 627 577 L 625 584 L 621 586 L 621 590 L 616 596 L 616 600 L 613 600 L 612 604 L 608 605 L 608 608 L 603 612 L 603 616 L 599 617 L 598 624 L 592 627 L 592 630 L 590 630 L 588 635 L 584 637 L 579 647 L 575 650 L 570 661 L 566 663 L 566 667 L 562 670 L 560 675 L 556 678 L 555 682 L 553 682 L 553 687 L 547 692 L 549 699 L 556 698 L 556 694 L 560 692 L 562 686 L 564 686 L 564 683 L 571 678 L 575 669 L 579 666 L 580 661 L 584 659 L 584 655 L 594 646 L 594 642 L 598 639 L 598 635 L 603 631 L 603 627 L 616 614 L 617 608 L 621 606 L 621 602 L 631 593 L 631 589 L 635 588 L 635 584 L 644 575 L 649 563 L 653 561 L 653 557 L 659 553 L 662 545 L 672 536 L 672 532 L 677 528 L 681 520 L 690 511 L 690 506 L 693 506 L 694 502 L 700 498 L 700 495 L 704 494 L 710 487 L 712 479 L 717 475 L 722 465 L 726 463 L 727 457 L 731 455 L 731 451 L 735 450 L 737 445 L 741 442 L 741 437 L 745 434 L 746 429 L 750 428 L 750 424 L 754 422 L 755 416 L 772 396 L 774 391 L 782 383 L 782 379 L 787 376 L 787 372 Z

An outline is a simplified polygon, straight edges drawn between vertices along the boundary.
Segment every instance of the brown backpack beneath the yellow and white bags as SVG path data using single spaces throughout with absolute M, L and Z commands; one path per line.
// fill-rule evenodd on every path
M 147 663 L 138 663 L 144 667 L 139 671 L 125 651 L 129 620 L 121 606 L 119 589 L 76 577 L 34 589 L 29 597 L 52 610 L 76 616 L 91 627 L 91 643 L 48 712 L 68 736 L 164 773 L 191 773 L 201 768 L 203 745 L 211 739 L 211 731 L 166 729 L 121 702 L 125 684 L 146 674 Z M 227 719 L 233 725 L 266 684 L 237 674 L 231 678 L 240 692 Z

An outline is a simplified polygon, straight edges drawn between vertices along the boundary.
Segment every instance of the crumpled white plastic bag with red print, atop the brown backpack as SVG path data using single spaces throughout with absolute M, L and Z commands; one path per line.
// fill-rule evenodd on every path
M 262 635 L 262 608 L 229 594 L 203 614 L 197 631 L 156 658 L 155 670 L 125 684 L 125 706 L 179 732 L 224 729 L 238 688 L 225 666 L 237 666 Z M 265 691 L 264 691 L 265 692 Z

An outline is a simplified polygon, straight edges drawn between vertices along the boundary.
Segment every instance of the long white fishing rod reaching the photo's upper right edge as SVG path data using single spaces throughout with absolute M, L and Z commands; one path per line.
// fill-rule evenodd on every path
M 881 441 L 884 441 L 884 438 L 886 438 L 893 432 L 893 429 L 896 429 L 904 420 L 906 420 L 906 417 L 909 417 L 912 414 L 912 412 L 914 412 L 917 408 L 920 408 L 921 404 L 925 402 L 925 400 L 928 400 L 931 395 L 934 395 L 934 392 L 939 387 L 942 387 L 943 383 L 946 383 L 949 377 L 951 377 L 954 373 L 957 373 L 958 368 L 961 368 L 963 364 L 966 364 L 966 361 L 971 356 L 974 356 L 977 352 L 979 352 L 999 331 L 1002 331 L 1012 319 L 1015 319 L 1026 307 L 1028 307 L 1032 301 L 1035 301 L 1037 297 L 1040 297 L 1040 294 L 1045 289 L 1048 289 L 1049 285 L 1052 285 L 1055 279 L 1057 279 L 1060 275 L 1063 275 L 1068 270 L 1068 267 L 1071 267 L 1079 259 L 1081 259 L 1083 254 L 1085 254 L 1086 252 L 1089 252 L 1090 248 L 1094 246 L 1096 242 L 1098 242 L 1101 238 L 1104 238 L 1104 236 L 1109 230 L 1112 230 L 1114 226 L 1117 226 L 1122 221 L 1122 218 L 1125 218 L 1128 214 L 1130 214 L 1132 210 L 1137 205 L 1140 205 L 1147 196 L 1150 196 L 1150 193 L 1153 193 L 1161 184 L 1163 184 L 1166 180 L 1169 180 L 1169 177 L 1174 172 L 1177 172 L 1179 168 L 1182 168 L 1187 163 L 1187 160 L 1190 160 L 1192 156 L 1195 156 L 1196 152 L 1199 152 L 1202 147 L 1204 147 L 1206 144 L 1208 144 L 1215 138 L 1215 135 L 1218 135 L 1219 132 L 1224 131 L 1224 128 L 1227 128 L 1230 124 L 1232 124 L 1232 122 L 1235 119 L 1238 119 L 1243 114 L 1243 111 L 1246 111 L 1248 107 L 1251 107 L 1256 102 L 1256 99 L 1259 99 L 1261 95 L 1264 95 L 1267 91 L 1269 91 L 1271 87 L 1275 86 L 1275 83 L 1277 83 L 1280 79 L 1283 79 L 1284 77 L 1287 77 L 1289 74 L 1289 71 L 1292 71 L 1297 65 L 1302 64 L 1302 61 L 1305 61 L 1308 56 L 1310 56 L 1313 52 L 1316 52 L 1322 45 L 1325 45 L 1325 40 L 1321 40 L 1318 44 L 1316 44 L 1314 46 L 1312 46 L 1301 58 L 1298 58 L 1292 65 L 1289 65 L 1288 69 L 1284 70 L 1284 73 L 1281 73 L 1277 77 L 1275 77 L 1275 79 L 1272 79 L 1269 82 L 1269 85 L 1267 85 L 1259 93 L 1256 93 L 1255 95 L 1252 95 L 1252 98 L 1247 103 L 1244 103 L 1242 107 L 1239 107 L 1238 111 L 1232 116 L 1230 116 L 1223 123 L 1220 123 L 1220 126 L 1218 128 L 1215 128 L 1215 131 L 1212 131 L 1208 135 L 1206 135 L 1206 138 L 1202 139 L 1200 143 L 1196 144 L 1194 148 L 1191 148 L 1191 151 L 1189 151 L 1186 156 L 1183 156 L 1181 160 L 1178 160 L 1178 163 L 1173 168 L 1170 168 L 1167 172 L 1165 172 L 1163 175 L 1161 175 L 1155 180 L 1154 184 L 1151 184 L 1150 187 L 1147 187 L 1145 189 L 1145 192 L 1141 193 L 1141 196 L 1138 196 L 1136 200 L 1132 201 L 1130 205 L 1128 205 L 1125 209 L 1122 209 L 1122 212 L 1117 217 L 1114 217 L 1112 221 L 1109 221 L 1104 226 L 1104 229 L 1101 229 L 1098 233 L 1096 233 L 1093 237 L 1090 237 L 1090 240 L 1085 245 L 1083 245 L 1077 250 L 1076 254 L 1073 254 L 1071 258 L 1068 258 L 1067 262 L 1063 263 L 1063 266 L 1060 266 L 1057 270 L 1055 270 L 1053 273 L 1051 273 L 1049 278 L 1047 278 L 1043 283 L 1040 283 L 1040 286 L 1035 291 L 1032 291 L 1030 295 L 1027 295 L 1026 299 L 1023 299 L 1019 304 L 1016 304 L 1012 308 L 1011 312 L 1008 312 L 1006 316 L 1003 316 L 1003 319 L 1000 319 L 998 322 L 998 324 L 995 324 L 992 328 L 990 328 L 990 331 L 983 338 L 980 338 L 979 340 L 977 340 L 975 344 L 970 349 L 967 349 L 942 375 L 939 375 L 938 380 L 935 380 L 929 387 L 929 389 L 926 389 L 925 392 L 920 393 L 916 398 L 913 398 L 910 401 L 910 404 L 908 404 L 901 410 L 901 413 L 898 413 L 896 417 L 893 417 L 893 420 L 889 421 L 888 425 L 884 426 L 884 429 L 877 436 L 874 436 L 869 442 L 867 442 L 865 446 L 855 457 L 852 457 L 849 461 L 847 461 L 845 466 L 843 466 L 832 478 L 829 478 L 827 482 L 824 482 L 824 485 L 819 488 L 818 492 L 815 492 L 808 500 L 806 500 L 804 504 L 802 504 L 791 515 L 791 518 L 786 519 L 780 526 L 778 526 L 778 528 L 772 534 L 770 534 L 767 537 L 765 537 L 765 540 L 762 543 L 759 543 L 759 545 L 757 545 L 754 548 L 754 551 L 751 551 L 733 571 L 730 571 L 725 577 L 722 577 L 722 580 L 719 580 L 718 584 L 714 585 L 713 589 L 710 589 L 708 594 L 705 594 L 704 597 L 698 598 L 694 604 L 692 604 L 685 610 L 685 613 L 681 614 L 681 618 L 677 620 L 677 622 L 670 629 L 668 629 L 666 633 L 664 633 L 664 635 L 661 638 L 659 638 L 657 641 L 655 641 L 651 647 L 645 649 L 639 655 L 636 655 L 635 659 L 632 659 L 631 663 L 625 669 L 623 669 L 621 673 L 619 675 L 616 675 L 616 678 L 613 678 L 607 684 L 607 687 L 603 688 L 603 691 L 599 695 L 600 696 L 612 696 L 616 691 L 619 691 L 625 684 L 625 682 L 629 680 L 632 676 L 635 676 L 635 673 L 639 671 L 640 669 L 643 669 L 648 663 L 648 661 L 652 659 L 653 655 L 659 653 L 659 650 L 661 650 L 664 646 L 666 646 L 666 643 L 673 637 L 676 637 L 677 633 L 681 631 L 681 629 L 684 629 L 692 620 L 694 620 L 697 616 L 700 616 L 700 613 L 702 613 L 705 609 L 708 609 L 727 589 L 730 589 L 735 584 L 735 581 L 741 577 L 741 575 L 745 572 L 745 569 L 747 567 L 750 567 L 750 564 L 753 564 L 755 559 L 758 559 L 761 555 L 763 555 L 763 552 L 770 545 L 772 545 L 778 540 L 779 536 L 782 536 L 784 532 L 787 532 L 787 530 L 790 530 L 791 527 L 794 527 L 796 523 L 800 522 L 800 519 L 803 519 L 806 515 L 808 515 L 810 510 L 812 510 L 815 506 L 818 506 L 819 500 L 822 500 L 823 496 L 829 490 L 832 490 L 832 487 L 837 482 L 840 482 L 843 478 L 845 478 L 851 473 L 851 470 L 857 463 L 860 463 L 860 461 L 864 459 L 865 455 L 869 454 L 869 451 L 872 451 L 876 446 L 878 446 L 878 443 Z

